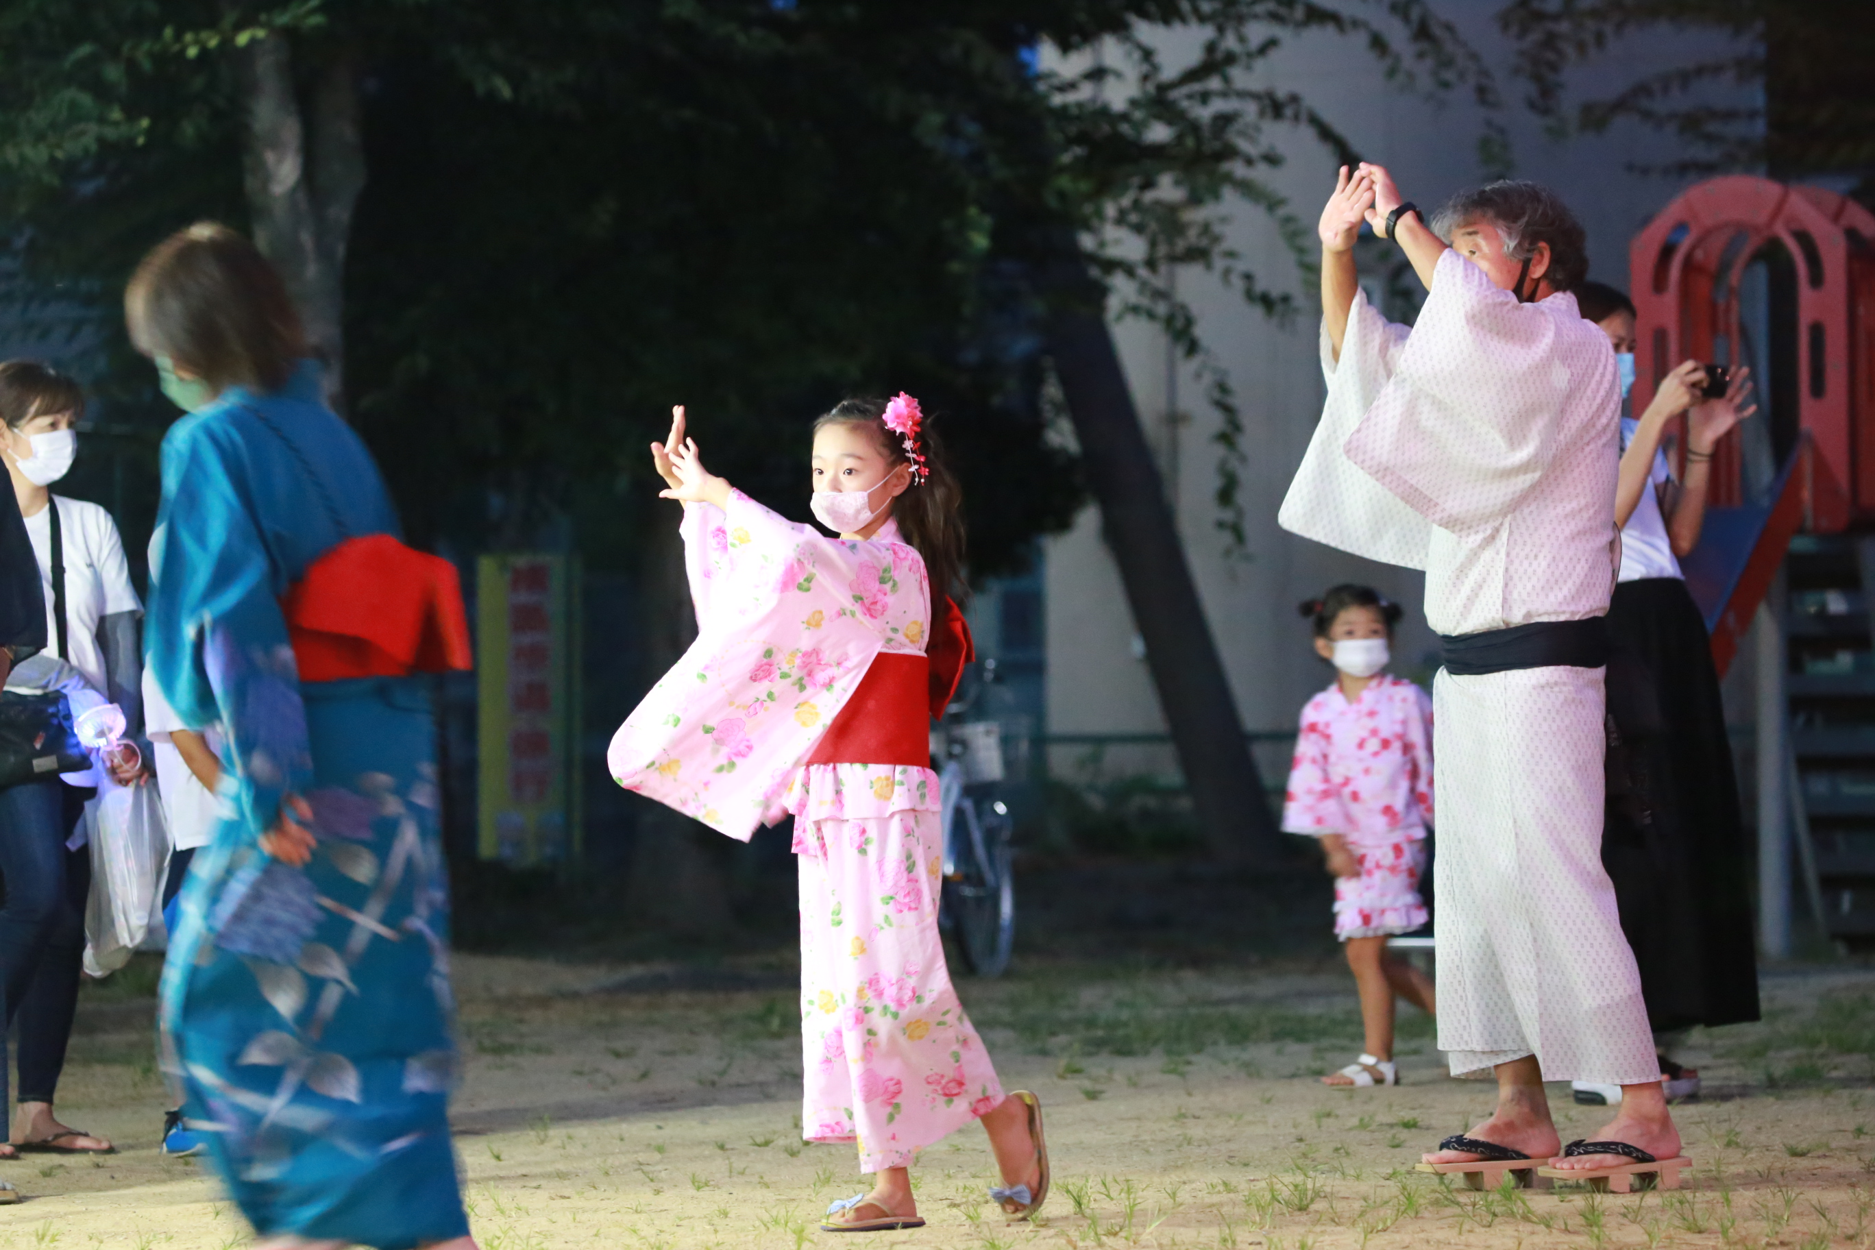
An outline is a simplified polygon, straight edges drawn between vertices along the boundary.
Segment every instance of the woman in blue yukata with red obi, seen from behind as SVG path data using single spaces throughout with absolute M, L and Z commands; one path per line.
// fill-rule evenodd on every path
M 146 648 L 219 725 L 221 823 L 161 988 L 163 1066 L 268 1250 L 472 1250 L 435 750 L 418 671 L 467 667 L 454 570 L 403 547 L 298 315 L 240 234 L 158 246 L 131 341 L 188 416 L 163 439 Z

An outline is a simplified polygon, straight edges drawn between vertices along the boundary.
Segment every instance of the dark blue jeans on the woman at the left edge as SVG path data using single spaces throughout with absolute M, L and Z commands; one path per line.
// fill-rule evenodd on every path
M 58 778 L 0 789 L 0 995 L 19 1021 L 19 1100 L 51 1102 L 66 1066 L 84 958 L 90 849 L 66 849 L 92 791 Z M 6 1044 L 0 1038 L 0 1108 Z

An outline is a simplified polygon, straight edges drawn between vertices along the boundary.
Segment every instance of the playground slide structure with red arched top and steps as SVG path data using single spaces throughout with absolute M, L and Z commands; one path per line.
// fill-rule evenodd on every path
M 1688 358 L 1749 364 L 1757 384 L 1761 414 L 1716 448 L 1682 568 L 1721 673 L 1759 620 L 1764 948 L 1791 948 L 1791 847 L 1817 930 L 1875 948 L 1875 214 L 1714 178 L 1635 236 L 1629 266 L 1635 410 Z

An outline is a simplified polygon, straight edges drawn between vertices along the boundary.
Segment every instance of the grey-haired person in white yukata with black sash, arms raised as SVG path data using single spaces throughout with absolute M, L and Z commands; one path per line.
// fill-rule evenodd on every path
M 1361 294 L 1361 221 L 1425 283 L 1408 332 Z M 1284 528 L 1425 570 L 1434 682 L 1438 1046 L 1492 1068 L 1498 1108 L 1429 1164 L 1551 1158 L 1607 1171 L 1680 1153 L 1635 960 L 1601 868 L 1603 665 L 1618 564 L 1620 386 L 1569 287 L 1582 229 L 1530 182 L 1455 197 L 1431 225 L 1378 165 L 1322 212 L 1328 407 Z M 1622 1085 L 1562 1141 L 1543 1079 Z

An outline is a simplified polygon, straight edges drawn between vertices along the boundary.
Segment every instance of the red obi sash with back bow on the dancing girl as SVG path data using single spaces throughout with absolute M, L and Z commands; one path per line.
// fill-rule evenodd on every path
M 808 765 L 909 765 L 930 768 L 930 722 L 943 716 L 964 665 L 977 658 L 964 613 L 949 598 L 932 628 L 930 654 L 879 652 L 853 697 L 827 725 Z

